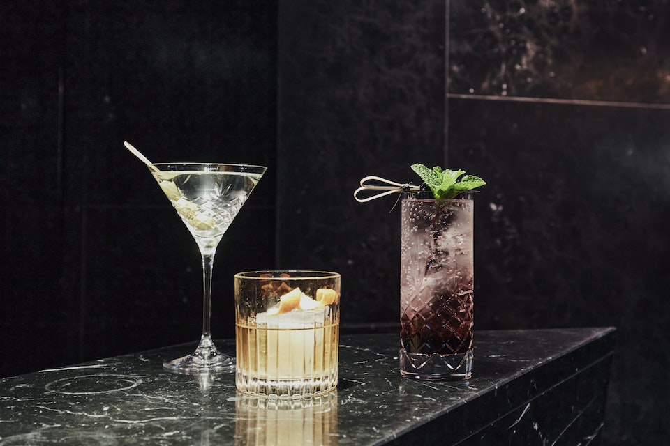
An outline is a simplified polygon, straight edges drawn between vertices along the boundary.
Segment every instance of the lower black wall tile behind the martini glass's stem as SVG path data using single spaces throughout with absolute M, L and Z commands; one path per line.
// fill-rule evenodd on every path
M 234 273 L 258 268 L 272 257 L 274 226 L 267 225 L 266 214 L 265 209 L 243 208 L 217 249 L 213 336 L 234 337 Z M 202 260 L 193 236 L 169 203 L 155 208 L 89 208 L 84 221 L 82 357 L 200 339 Z

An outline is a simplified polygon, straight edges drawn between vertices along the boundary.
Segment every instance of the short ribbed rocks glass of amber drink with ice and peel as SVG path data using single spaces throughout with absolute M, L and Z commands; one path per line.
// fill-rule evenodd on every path
M 235 275 L 236 385 L 260 396 L 309 397 L 337 385 L 340 275 Z

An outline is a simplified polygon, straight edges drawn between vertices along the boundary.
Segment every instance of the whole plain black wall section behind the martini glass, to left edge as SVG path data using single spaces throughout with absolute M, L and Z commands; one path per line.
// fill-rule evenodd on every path
M 0 376 L 198 339 L 198 248 L 126 139 L 270 167 L 214 263 L 232 337 L 232 275 L 274 263 L 276 23 L 273 1 L 2 3 Z

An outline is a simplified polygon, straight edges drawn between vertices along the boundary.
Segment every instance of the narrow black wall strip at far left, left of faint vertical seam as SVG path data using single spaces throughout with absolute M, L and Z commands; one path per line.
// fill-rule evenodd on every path
M 58 91 L 63 35 L 62 10 L 55 5 L 0 6 L 2 376 L 76 357 L 68 348 L 76 331 L 59 323 L 70 315 L 73 299 L 61 293 Z

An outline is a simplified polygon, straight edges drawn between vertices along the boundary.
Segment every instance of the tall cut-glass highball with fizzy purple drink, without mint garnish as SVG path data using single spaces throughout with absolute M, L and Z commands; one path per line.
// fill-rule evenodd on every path
M 418 379 L 472 376 L 472 194 L 435 200 L 403 192 L 401 374 Z

